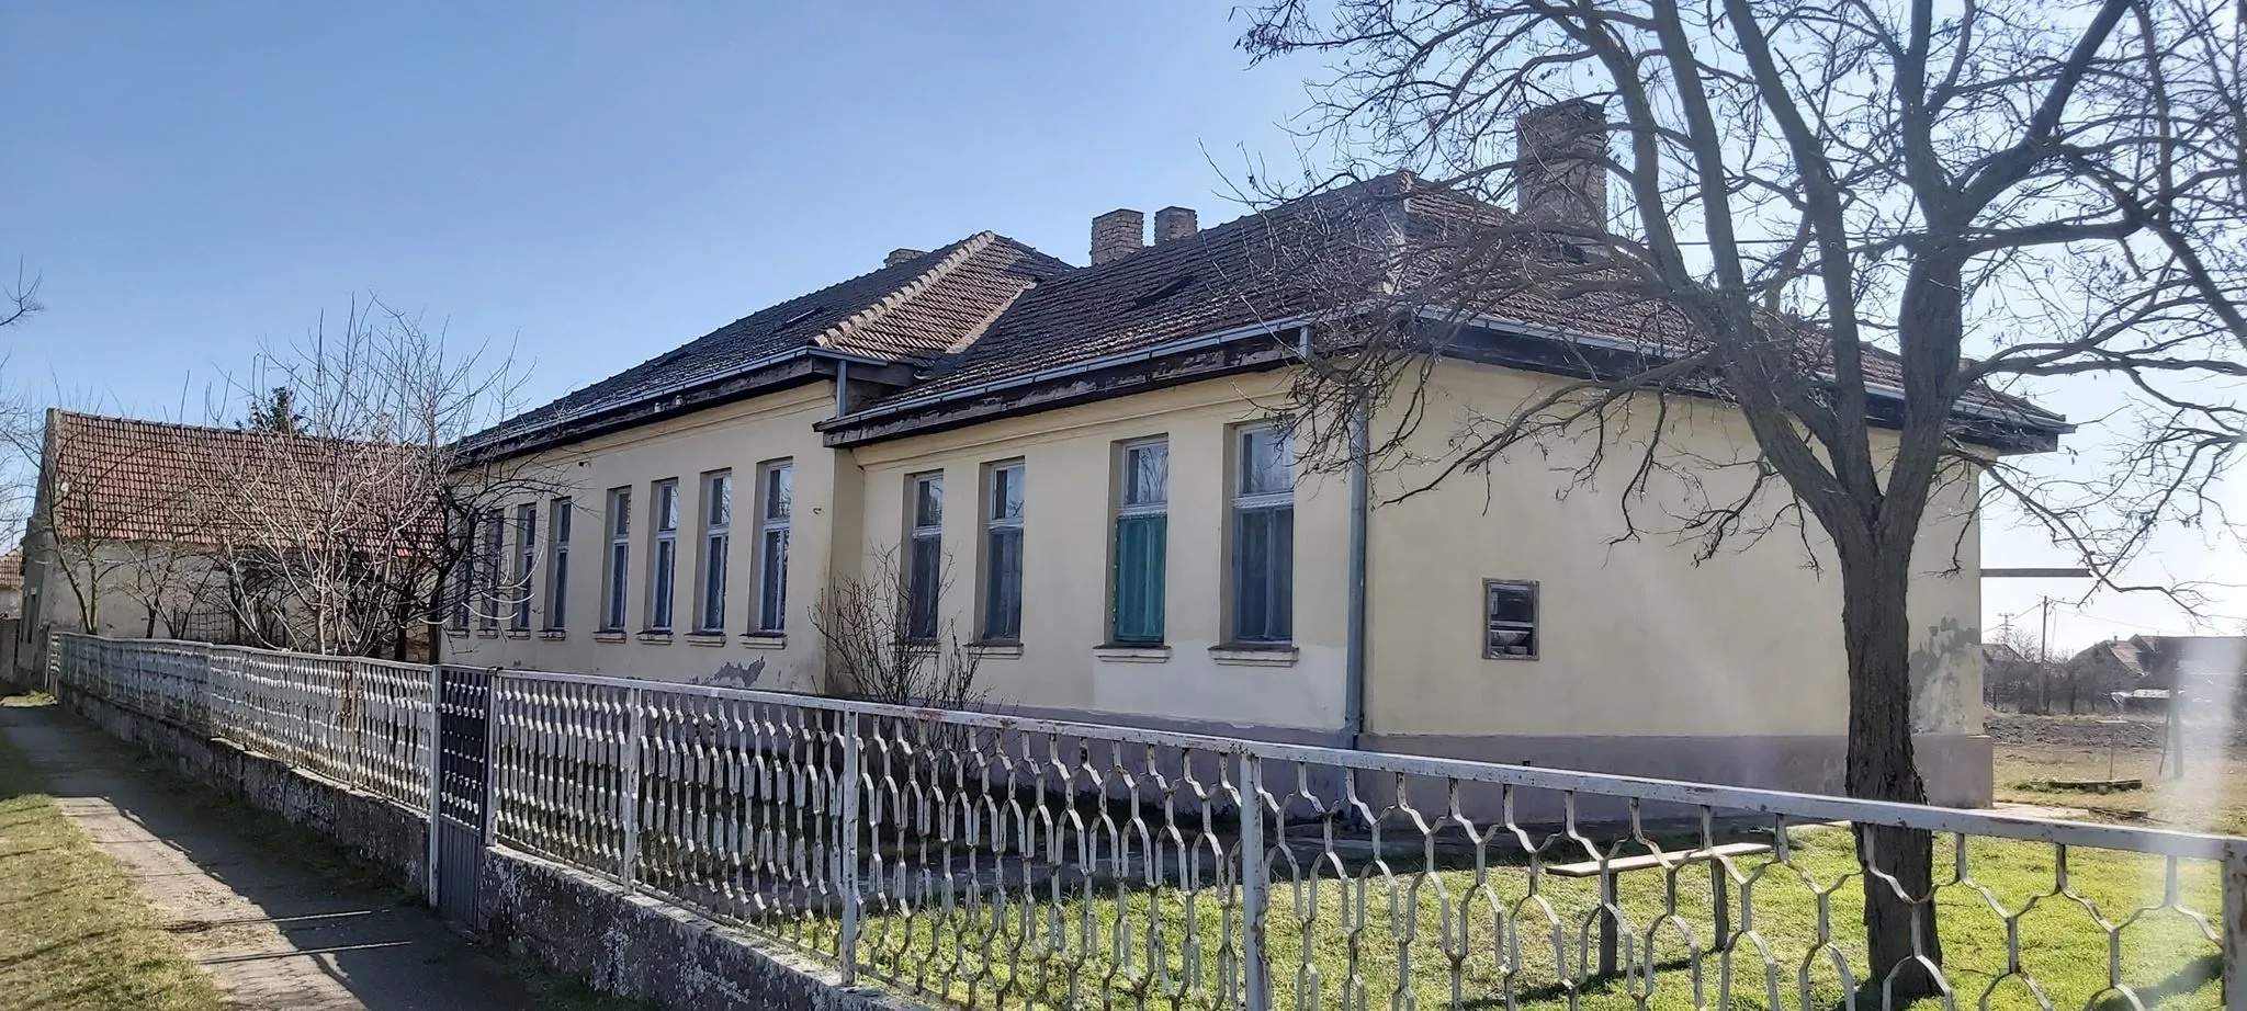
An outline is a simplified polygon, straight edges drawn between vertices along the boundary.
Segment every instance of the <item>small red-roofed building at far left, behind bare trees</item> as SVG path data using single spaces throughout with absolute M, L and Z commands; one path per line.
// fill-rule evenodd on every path
M 362 517 L 386 510 L 335 503 L 330 476 L 380 474 L 400 454 L 411 449 L 47 411 L 20 548 L 22 640 L 97 631 L 306 645 L 306 602 L 339 580 L 310 580 L 303 557 L 391 544 L 369 537 Z M 398 627 L 386 622 L 393 645 L 382 652 L 427 640 Z M 27 663 L 34 654 L 20 652 Z

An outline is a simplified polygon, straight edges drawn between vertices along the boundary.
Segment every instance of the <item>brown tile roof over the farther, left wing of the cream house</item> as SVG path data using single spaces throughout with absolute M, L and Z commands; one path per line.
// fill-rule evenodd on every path
M 973 341 L 1031 285 L 1070 265 L 1013 238 L 977 231 L 870 274 L 750 312 L 622 373 L 467 438 L 488 445 L 573 418 L 726 380 L 757 362 L 825 348 L 924 364 Z

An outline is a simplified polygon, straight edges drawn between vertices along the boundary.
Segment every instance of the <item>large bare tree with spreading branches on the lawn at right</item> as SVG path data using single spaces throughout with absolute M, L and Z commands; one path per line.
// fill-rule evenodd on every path
M 1816 523 L 1847 791 L 1923 802 L 1905 591 L 1941 483 L 2011 494 L 2117 589 L 2148 530 L 2227 521 L 2207 492 L 2243 416 L 2209 380 L 2247 375 L 2243 31 L 2231 0 L 1265 0 L 1243 45 L 1332 61 L 1312 128 L 1337 151 L 1526 211 L 1393 229 L 1294 407 L 1335 456 L 1382 458 L 1427 418 L 1456 324 L 1532 299 L 1607 319 L 1607 341 L 1559 335 L 1550 371 L 1575 380 L 1449 434 L 1431 481 L 1640 418 L 1584 465 L 1631 503 L 1694 467 L 1663 452 L 1674 398 L 1737 407 L 1755 445 L 1712 465 L 1746 479 L 1670 532 L 1705 555 Z M 2036 420 L 1998 393 L 2022 377 L 2132 398 L 2099 425 L 2101 467 L 1977 445 Z M 1856 836 L 1874 977 L 1930 993 L 1930 838 Z

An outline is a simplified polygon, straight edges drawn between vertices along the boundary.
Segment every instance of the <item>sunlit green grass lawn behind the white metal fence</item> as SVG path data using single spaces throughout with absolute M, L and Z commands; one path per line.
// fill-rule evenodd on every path
M 1863 982 L 1865 950 L 1856 858 L 1847 829 L 1793 834 L 1786 863 L 1768 856 L 1735 863 L 1730 955 L 1712 953 L 1708 865 L 1676 874 L 1622 876 L 1620 901 L 1636 944 L 1652 939 L 1652 973 L 1584 973 L 1598 950 L 1598 885 L 1544 876 L 1535 892 L 1521 865 L 1382 876 L 1355 867 L 1314 885 L 1272 890 L 1267 946 L 1274 1007 L 1517 1007 L 1831 1009 L 1843 998 L 1836 959 Z M 1937 840 L 1939 881 L 1953 849 Z M 1975 840 L 1971 883 L 1939 892 L 1946 977 L 1957 1007 L 2038 1007 L 2027 980 L 2056 1009 L 2126 1009 L 2108 986 L 2108 932 L 2092 912 L 2056 890 L 2054 849 L 2034 842 Z M 1306 869 L 1308 874 L 1308 869 Z M 2218 948 L 2202 926 L 2157 905 L 2164 863 L 2135 854 L 2069 851 L 2067 883 L 2121 930 L 2114 968 L 2148 1009 L 2213 1009 Z M 1975 887 L 1980 885 L 1980 887 Z M 2180 867 L 2184 905 L 2216 914 L 2213 865 Z M 1984 894 L 1982 890 L 1989 890 Z M 1013 1007 L 1034 998 L 1056 1007 L 1220 1007 L 1220 980 L 1236 973 L 1238 912 L 1229 892 L 1207 890 L 1189 910 L 1177 890 L 1115 887 L 1045 905 L 921 910 L 870 917 L 863 962 L 881 975 L 973 1000 Z M 1991 903 L 2020 912 L 2020 964 L 2007 975 L 2007 923 Z M 2137 919 L 2132 914 L 2137 912 Z M 1159 937 L 1159 944 L 1150 939 Z M 1150 953 L 1162 953 L 1153 957 Z M 1308 957 L 1303 953 L 1310 953 Z M 1409 957 L 1407 957 L 1409 955 Z M 1629 959 L 1627 964 L 1645 964 Z M 1456 968 L 1456 973 L 1454 973 Z M 1456 989 L 1454 989 L 1456 984 Z M 1393 1000 L 1404 998 L 1404 1000 Z

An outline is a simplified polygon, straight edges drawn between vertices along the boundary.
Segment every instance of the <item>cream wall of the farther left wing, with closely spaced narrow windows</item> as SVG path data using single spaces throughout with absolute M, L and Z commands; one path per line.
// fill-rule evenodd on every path
M 726 683 L 768 690 L 816 690 L 820 674 L 818 634 L 809 607 L 827 573 L 831 544 L 831 490 L 836 488 L 836 454 L 820 445 L 813 422 L 834 413 L 834 386 L 827 382 L 773 393 L 755 400 L 697 411 L 656 425 L 643 425 L 560 449 L 548 449 L 530 463 L 510 463 L 510 474 L 551 483 L 553 494 L 568 494 L 571 573 L 566 638 L 521 638 L 506 634 L 447 634 L 445 656 L 472 665 L 564 670 L 663 681 Z M 755 602 L 755 488 L 759 465 L 789 458 L 795 465 L 793 519 L 789 528 L 789 616 L 782 647 L 744 640 Z M 692 643 L 697 618 L 697 559 L 701 550 L 703 481 L 712 470 L 733 470 L 735 521 L 726 575 L 724 645 Z M 670 643 L 647 643 L 638 636 L 647 625 L 649 580 L 649 483 L 679 481 L 679 566 L 674 573 L 674 629 Z M 602 609 L 602 559 L 609 548 L 607 499 L 611 488 L 631 488 L 631 602 L 622 643 L 595 640 Z M 542 497 L 544 499 L 544 497 Z M 506 508 L 508 573 L 515 571 L 515 503 Z M 539 506 L 539 539 L 548 532 L 548 512 Z M 533 629 L 546 625 L 546 555 L 535 582 Z M 501 620 L 506 629 L 506 620 Z M 762 667 L 759 667 L 762 665 Z

